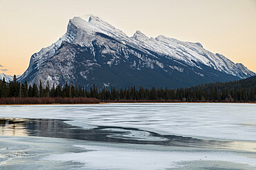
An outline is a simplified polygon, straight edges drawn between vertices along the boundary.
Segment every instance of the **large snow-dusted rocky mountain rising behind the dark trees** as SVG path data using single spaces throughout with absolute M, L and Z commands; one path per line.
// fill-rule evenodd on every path
M 70 19 L 55 44 L 32 55 L 19 81 L 51 86 L 79 84 L 98 88 L 143 86 L 170 88 L 227 82 L 255 75 L 242 64 L 205 50 L 200 43 L 140 31 L 124 32 L 91 16 Z

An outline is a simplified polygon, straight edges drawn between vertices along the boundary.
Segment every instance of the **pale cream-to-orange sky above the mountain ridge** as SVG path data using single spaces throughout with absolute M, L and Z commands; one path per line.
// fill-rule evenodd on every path
M 0 0 L 0 73 L 24 73 L 33 53 L 64 35 L 68 19 L 89 14 L 129 36 L 200 42 L 256 72 L 255 0 Z

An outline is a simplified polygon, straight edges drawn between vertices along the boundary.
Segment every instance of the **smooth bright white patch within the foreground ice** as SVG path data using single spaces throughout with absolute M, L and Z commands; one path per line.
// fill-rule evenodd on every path
M 223 151 L 184 151 L 182 149 L 158 148 L 134 149 L 129 147 L 77 145 L 86 149 L 83 153 L 50 155 L 46 160 L 73 161 L 86 164 L 86 169 L 167 169 L 183 161 L 223 161 L 249 164 L 256 167 L 255 159 Z M 88 151 L 91 150 L 91 151 Z

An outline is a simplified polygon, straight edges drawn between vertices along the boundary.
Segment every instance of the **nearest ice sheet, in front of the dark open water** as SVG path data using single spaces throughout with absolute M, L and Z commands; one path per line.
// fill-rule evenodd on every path
M 0 169 L 246 169 L 255 153 L 60 138 L 0 137 Z M 17 155 L 19 153 L 19 155 Z

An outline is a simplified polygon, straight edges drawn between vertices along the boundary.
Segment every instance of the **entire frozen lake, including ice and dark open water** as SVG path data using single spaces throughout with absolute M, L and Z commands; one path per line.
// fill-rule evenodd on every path
M 0 106 L 0 117 L 0 169 L 256 168 L 255 104 Z

